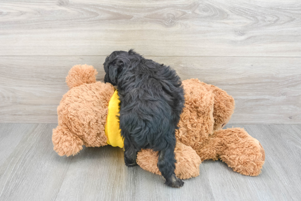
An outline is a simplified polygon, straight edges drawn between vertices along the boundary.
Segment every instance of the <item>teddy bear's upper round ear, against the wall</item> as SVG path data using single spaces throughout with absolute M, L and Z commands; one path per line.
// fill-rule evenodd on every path
M 94 83 L 96 82 L 97 71 L 93 66 L 87 64 L 75 65 L 73 66 L 66 77 L 66 83 L 71 89 L 72 87 L 80 86 L 84 83 Z

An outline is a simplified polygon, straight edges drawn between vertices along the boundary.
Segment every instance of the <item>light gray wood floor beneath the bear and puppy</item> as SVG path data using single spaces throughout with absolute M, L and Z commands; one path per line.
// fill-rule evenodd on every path
M 74 157 L 53 151 L 56 124 L 0 124 L 0 200 L 299 200 L 301 125 L 244 127 L 266 152 L 259 176 L 204 161 L 181 189 L 140 167 L 127 168 L 123 150 L 84 148 Z

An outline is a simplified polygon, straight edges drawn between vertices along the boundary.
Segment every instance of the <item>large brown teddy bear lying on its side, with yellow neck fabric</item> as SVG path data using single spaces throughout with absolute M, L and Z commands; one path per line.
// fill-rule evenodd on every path
M 118 126 L 116 111 L 113 112 L 118 110 L 117 93 L 111 84 L 96 82 L 96 75 L 93 66 L 85 64 L 73 66 L 66 77 L 70 90 L 57 107 L 58 126 L 52 136 L 54 150 L 60 156 L 75 155 L 83 145 L 122 147 L 115 143 L 122 142 L 119 127 L 114 128 L 114 123 Z M 233 114 L 234 99 L 198 79 L 184 80 L 182 84 L 185 107 L 176 131 L 176 176 L 198 176 L 201 161 L 209 159 L 221 159 L 240 174 L 259 175 L 265 157 L 260 142 L 242 128 L 222 129 Z M 120 139 L 115 140 L 118 136 Z M 158 155 L 152 150 L 143 149 L 137 155 L 141 168 L 161 174 L 157 162 Z

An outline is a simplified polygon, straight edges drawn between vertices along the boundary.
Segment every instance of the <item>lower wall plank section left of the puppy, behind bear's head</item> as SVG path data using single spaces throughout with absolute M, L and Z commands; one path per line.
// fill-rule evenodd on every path
M 75 64 L 103 64 L 104 57 L 1 57 L 0 122 L 57 123 L 57 106 L 68 91 L 65 77 Z M 104 77 L 103 68 L 97 68 Z

